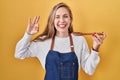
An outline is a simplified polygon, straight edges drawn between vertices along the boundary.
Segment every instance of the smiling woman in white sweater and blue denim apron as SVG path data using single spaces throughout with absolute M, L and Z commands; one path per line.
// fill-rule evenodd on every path
M 17 43 L 15 57 L 24 59 L 37 57 L 46 70 L 44 80 L 78 80 L 80 66 L 92 75 L 100 58 L 98 49 L 105 39 L 105 33 L 92 35 L 91 54 L 83 36 L 73 33 L 72 13 L 65 3 L 53 7 L 45 31 L 30 42 L 39 31 L 39 16 L 31 22 L 23 38 Z

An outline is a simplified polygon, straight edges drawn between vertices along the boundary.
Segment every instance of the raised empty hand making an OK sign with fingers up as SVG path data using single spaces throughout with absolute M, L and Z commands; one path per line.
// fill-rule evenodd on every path
M 34 20 L 31 22 L 31 18 L 28 19 L 28 26 L 26 32 L 30 35 L 36 34 L 39 32 L 39 21 L 40 16 L 35 16 Z

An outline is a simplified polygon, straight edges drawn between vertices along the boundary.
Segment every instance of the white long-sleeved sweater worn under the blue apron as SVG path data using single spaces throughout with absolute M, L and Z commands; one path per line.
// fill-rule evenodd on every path
M 100 62 L 98 52 L 91 50 L 90 53 L 86 40 L 83 36 L 75 36 L 73 34 L 71 35 L 74 44 L 74 51 L 79 62 L 79 70 L 80 66 L 82 66 L 86 73 L 92 75 L 98 63 Z M 24 34 L 23 38 L 16 45 L 15 57 L 18 59 L 37 57 L 45 69 L 45 60 L 48 51 L 50 50 L 52 39 L 40 42 L 30 42 L 32 36 L 33 35 L 28 35 L 27 33 Z M 71 49 L 69 37 L 60 38 L 55 36 L 53 50 L 64 54 L 70 52 Z

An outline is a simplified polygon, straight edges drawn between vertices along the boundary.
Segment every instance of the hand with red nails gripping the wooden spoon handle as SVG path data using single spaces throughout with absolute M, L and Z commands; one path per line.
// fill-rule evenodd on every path
M 93 39 L 93 50 L 98 51 L 100 45 L 103 43 L 104 39 L 106 38 L 106 34 L 103 32 L 103 35 L 98 35 L 97 33 L 94 33 L 92 35 Z

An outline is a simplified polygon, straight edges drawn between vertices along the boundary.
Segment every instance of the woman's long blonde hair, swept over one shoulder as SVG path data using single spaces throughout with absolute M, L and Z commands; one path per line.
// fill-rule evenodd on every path
M 73 16 L 72 16 L 71 9 L 69 8 L 68 5 L 61 2 L 53 7 L 53 9 L 48 17 L 47 25 L 46 25 L 44 32 L 42 34 L 38 35 L 35 39 L 33 39 L 33 41 L 44 41 L 44 40 L 52 38 L 56 35 L 56 29 L 54 27 L 54 19 L 55 19 L 56 11 L 61 7 L 65 7 L 69 12 L 69 15 L 71 18 L 71 23 L 70 23 L 70 26 L 68 28 L 68 31 L 69 31 L 69 33 L 73 32 L 73 26 L 72 26 Z

